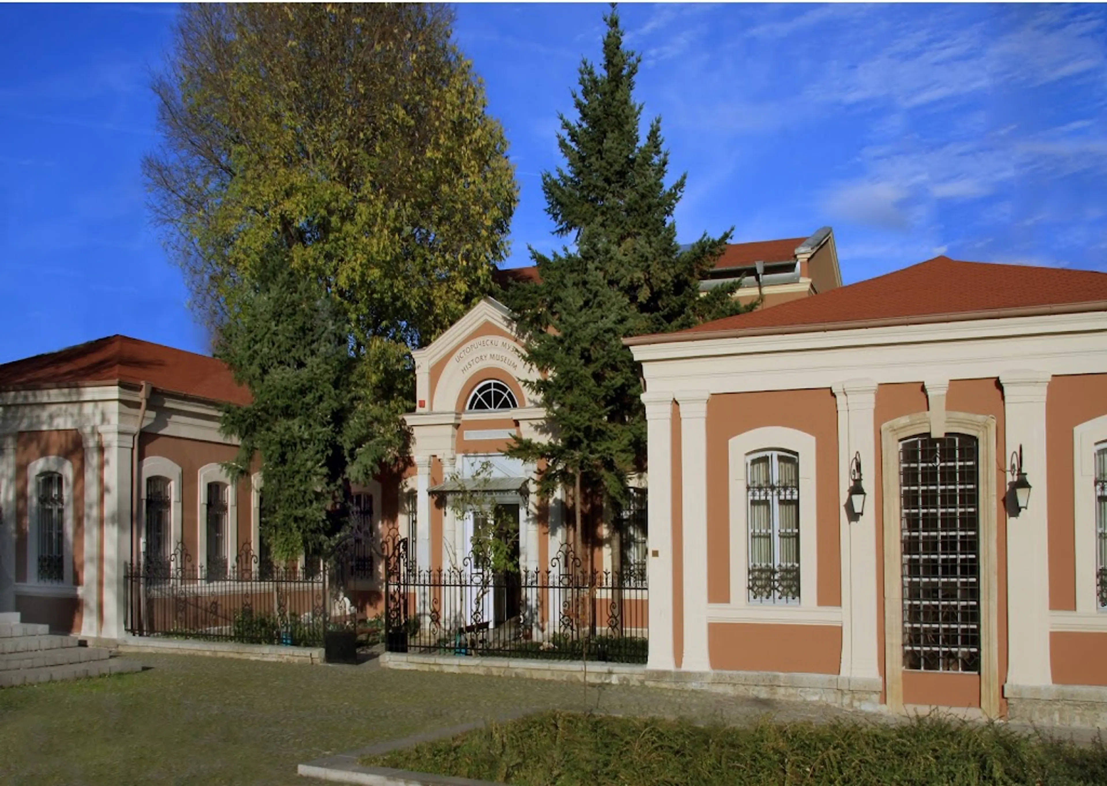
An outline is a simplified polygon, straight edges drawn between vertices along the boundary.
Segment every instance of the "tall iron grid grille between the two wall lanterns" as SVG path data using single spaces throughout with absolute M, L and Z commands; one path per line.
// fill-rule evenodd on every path
M 903 668 L 980 672 L 980 515 L 974 437 L 900 442 Z

